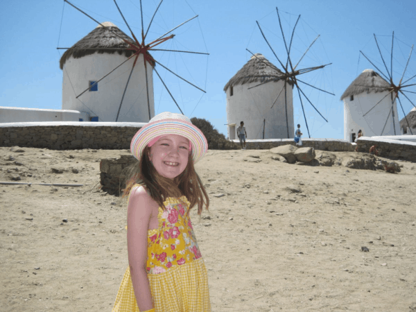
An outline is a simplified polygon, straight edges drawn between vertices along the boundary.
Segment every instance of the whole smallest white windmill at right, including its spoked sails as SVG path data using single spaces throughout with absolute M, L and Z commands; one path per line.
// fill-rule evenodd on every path
M 377 39 L 375 34 L 374 41 L 382 64 L 379 62 L 379 66 L 377 66 L 374 60 L 371 60 L 363 51 L 360 51 L 361 55 L 372 64 L 376 71 L 372 69 L 363 71 L 360 76 L 367 75 L 367 78 L 359 79 L 360 76 L 358 76 L 352 85 L 350 85 L 349 89 L 341 96 L 345 105 L 349 106 L 350 112 L 348 114 L 351 121 L 347 122 L 345 126 L 346 128 L 351 128 L 349 130 L 350 132 L 354 132 L 353 128 L 355 123 L 358 127 L 363 128 L 364 135 L 366 136 L 399 135 L 400 125 L 397 102 L 401 107 L 401 112 L 404 114 L 404 124 L 410 128 L 411 132 L 410 123 L 407 120 L 404 105 L 401 100 L 404 98 L 406 102 L 415 107 L 410 97 L 411 94 L 416 94 L 416 92 L 410 90 L 414 89 L 416 85 L 416 83 L 412 83 L 411 81 L 416 75 L 408 78 L 413 45 L 410 47 L 408 57 L 404 59 L 406 65 L 404 65 L 403 72 L 400 71 L 397 73 L 393 65 L 395 64 L 397 66 L 399 64 L 399 60 L 395 57 L 394 53 L 395 39 L 395 33 L 393 32 L 391 49 L 390 46 L 388 49 L 388 52 L 390 52 L 390 64 L 386 62 L 382 53 L 380 40 Z M 381 70 L 383 67 L 385 71 Z M 399 80 L 397 81 L 398 77 Z

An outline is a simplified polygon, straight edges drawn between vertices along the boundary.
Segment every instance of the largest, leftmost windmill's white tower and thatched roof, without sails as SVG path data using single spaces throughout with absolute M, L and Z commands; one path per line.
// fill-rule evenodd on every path
M 62 110 L 78 110 L 88 114 L 89 120 L 86 121 L 116 121 L 119 114 L 117 121 L 148 122 L 143 55 L 139 56 L 125 89 L 135 57 L 128 60 L 133 51 L 127 49 L 130 46 L 123 40 L 133 40 L 114 24 L 106 21 L 103 25 L 106 27 L 98 25 L 60 59 L 63 71 Z M 155 108 L 153 66 L 149 63 L 147 78 L 151 118 L 155 115 Z

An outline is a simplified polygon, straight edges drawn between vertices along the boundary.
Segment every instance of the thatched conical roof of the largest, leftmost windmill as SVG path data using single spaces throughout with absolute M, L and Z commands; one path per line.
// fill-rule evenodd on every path
M 132 38 L 110 21 L 105 21 L 102 24 L 105 27 L 98 25 L 94 31 L 65 51 L 62 58 L 60 58 L 60 69 L 64 68 L 65 62 L 67 62 L 71 56 L 73 58 L 82 58 L 85 55 L 91 55 L 98 52 L 108 54 L 119 53 L 120 55 L 124 54 L 125 57 L 128 58 L 134 53 L 132 50 L 128 50 L 130 45 L 125 43 L 121 38 L 132 43 L 135 43 L 135 40 L 132 40 Z M 121 50 L 109 50 L 109 48 L 120 48 Z

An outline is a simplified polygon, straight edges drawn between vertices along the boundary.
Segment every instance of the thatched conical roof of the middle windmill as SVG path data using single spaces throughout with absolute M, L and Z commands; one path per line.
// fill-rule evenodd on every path
M 270 63 L 262 54 L 254 54 L 250 60 L 245 63 L 242 69 L 237 71 L 233 78 L 229 80 L 224 87 L 224 92 L 230 86 L 244 85 L 245 83 L 259 82 L 263 83 L 268 80 L 280 80 L 284 73 L 275 65 Z

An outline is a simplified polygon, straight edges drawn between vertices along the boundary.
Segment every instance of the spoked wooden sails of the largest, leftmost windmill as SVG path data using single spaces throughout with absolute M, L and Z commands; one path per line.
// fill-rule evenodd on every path
M 124 55 L 125 57 L 123 60 L 119 60 L 118 64 L 114 64 L 113 68 L 109 69 L 107 72 L 102 73 L 100 77 L 97 77 L 94 79 L 94 81 L 89 81 L 89 85 L 84 85 L 83 89 L 74 89 L 73 85 L 76 85 L 76 82 L 70 81 L 70 85 L 72 87 L 72 92 L 75 94 L 75 98 L 77 101 L 82 102 L 81 100 L 83 97 L 89 96 L 89 92 L 94 89 L 98 85 L 98 83 L 101 83 L 101 81 L 109 81 L 112 79 L 117 79 L 119 76 L 121 76 L 120 69 L 130 67 L 128 69 L 128 74 L 125 74 L 125 79 L 123 80 L 123 85 L 119 87 L 119 99 L 117 100 L 118 103 L 110 103 L 112 105 L 112 120 L 110 121 L 119 121 L 119 116 L 121 113 L 121 110 L 125 108 L 125 105 L 127 104 L 126 98 L 128 97 L 129 92 L 131 93 L 132 90 L 137 89 L 137 84 L 132 85 L 132 80 L 135 76 L 138 75 L 137 73 L 137 67 L 140 67 L 141 73 L 140 75 L 143 76 L 142 85 L 145 85 L 144 92 L 145 92 L 145 101 L 146 102 L 146 117 L 148 117 L 147 121 L 153 117 L 154 114 L 154 107 L 153 107 L 153 78 L 152 74 L 153 72 L 156 73 L 157 77 L 159 78 L 160 82 L 162 83 L 164 89 L 166 89 L 166 92 L 169 94 L 171 101 L 175 103 L 177 106 L 177 109 L 180 110 L 182 114 L 184 114 L 182 108 L 177 103 L 177 100 L 173 96 L 173 92 L 171 92 L 170 87 L 168 86 L 168 83 L 165 82 L 165 78 L 163 78 L 163 73 L 159 72 L 161 70 L 164 71 L 165 75 L 171 75 L 172 77 L 175 77 L 175 79 L 182 81 L 183 83 L 186 83 L 187 85 L 198 89 L 200 92 L 205 93 L 205 90 L 203 90 L 201 87 L 198 87 L 196 83 L 191 83 L 189 81 L 189 78 L 183 78 L 183 75 L 180 73 L 177 73 L 177 69 L 173 70 L 168 68 L 166 64 L 163 64 L 158 58 L 156 58 L 154 55 L 155 53 L 175 53 L 180 54 L 181 58 L 182 55 L 209 55 L 209 53 L 205 52 L 198 52 L 198 51 L 188 51 L 187 49 L 166 49 L 164 48 L 164 45 L 166 45 L 167 42 L 173 42 L 173 38 L 175 37 L 175 34 L 173 34 L 174 31 L 183 30 L 184 25 L 188 24 L 190 21 L 193 21 L 198 17 L 198 15 L 193 16 L 189 19 L 186 19 L 182 21 L 182 23 L 177 24 L 173 28 L 169 28 L 166 32 L 164 32 L 162 35 L 157 35 L 157 37 L 153 40 L 148 40 L 148 37 L 151 37 L 152 35 L 155 35 L 155 32 L 152 33 L 151 26 L 157 24 L 155 22 L 155 17 L 157 17 L 160 13 L 159 8 L 163 7 L 163 0 L 159 2 L 159 5 L 155 9 L 155 12 L 153 13 L 153 16 L 151 17 L 150 21 L 148 22 L 148 26 L 146 28 L 144 27 L 144 10 L 142 7 L 142 3 L 140 1 L 140 16 L 141 16 L 141 33 L 140 35 L 135 35 L 135 33 L 132 31 L 132 26 L 128 23 L 127 19 L 123 15 L 123 12 L 121 11 L 121 8 L 116 0 L 114 0 L 114 4 L 116 6 L 116 10 L 119 12 L 119 15 L 123 19 L 125 25 L 128 28 L 128 31 L 130 32 L 131 37 L 128 35 L 125 35 L 123 31 L 120 31 L 119 28 L 115 27 L 114 24 L 109 23 L 101 23 L 91 15 L 89 15 L 85 10 L 79 8 L 78 6 L 74 5 L 73 3 L 69 2 L 68 0 L 64 0 L 64 5 L 68 4 L 71 6 L 71 8 L 76 9 L 78 12 L 85 15 L 85 17 L 88 17 L 92 21 L 94 21 L 100 28 L 102 28 L 101 33 L 105 32 L 105 36 L 112 37 L 110 38 L 110 42 L 112 44 L 109 44 L 109 46 L 98 46 L 94 48 L 90 48 L 89 46 L 82 46 L 78 47 L 77 44 L 74 45 L 71 48 L 61 48 L 58 47 L 58 49 L 67 49 L 67 52 L 71 50 L 71 55 L 76 55 L 77 49 L 78 51 L 83 51 L 84 54 L 92 54 L 95 53 L 98 50 L 98 53 L 114 53 L 117 52 L 120 55 Z M 134 3 L 132 3 L 135 5 Z M 62 14 L 63 15 L 63 14 Z M 159 23 L 162 24 L 162 23 Z M 139 39 L 138 39 L 139 38 Z M 114 42 L 116 42 L 114 44 Z M 89 51 L 88 53 L 88 50 Z M 62 58 L 65 56 L 65 54 L 62 56 Z M 62 64 L 61 64 L 62 66 Z M 124 69 L 123 69 L 124 70 Z M 114 101 L 114 100 L 112 100 Z M 133 101 L 134 102 L 134 101 Z M 128 103 L 130 107 L 132 105 L 136 105 L 135 103 Z M 83 103 L 85 105 L 85 103 Z M 102 105 L 102 103 L 99 103 L 99 105 Z M 145 103 L 139 103 L 139 105 L 145 105 Z M 85 105 L 87 106 L 87 105 Z M 98 105 L 97 105 L 98 106 Z M 131 109 L 131 108 L 130 108 Z M 114 111 L 114 112 L 113 112 Z M 125 114 L 128 114 L 128 110 L 125 111 Z

